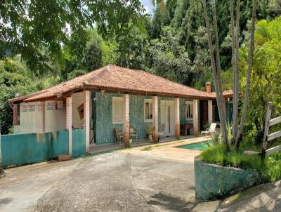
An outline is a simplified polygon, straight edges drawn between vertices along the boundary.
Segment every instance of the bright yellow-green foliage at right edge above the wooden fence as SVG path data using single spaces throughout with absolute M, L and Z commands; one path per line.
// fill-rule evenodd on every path
M 256 143 L 261 143 L 263 126 L 265 123 L 266 108 L 268 102 L 273 102 L 275 107 L 274 117 L 280 116 L 281 111 L 281 18 L 271 22 L 261 20 L 256 24 L 255 51 L 252 86 L 249 95 L 249 112 L 247 114 L 248 126 L 256 131 Z M 247 69 L 247 48 L 240 49 L 240 70 L 242 82 Z M 244 88 L 245 84 L 241 84 Z M 280 129 L 280 127 L 279 127 Z M 275 129 L 276 130 L 276 129 Z

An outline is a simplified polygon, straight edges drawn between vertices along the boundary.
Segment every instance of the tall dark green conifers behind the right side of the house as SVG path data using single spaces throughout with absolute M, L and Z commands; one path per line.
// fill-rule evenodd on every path
M 195 88 L 204 89 L 206 81 L 212 81 L 213 77 L 211 76 L 210 70 L 211 65 L 207 50 L 207 34 L 204 27 L 201 2 L 196 0 L 170 1 L 169 3 L 166 2 L 167 6 L 164 7 L 164 9 L 161 9 L 159 4 L 161 1 L 157 2 L 158 6 L 155 8 L 150 27 L 148 27 L 150 39 L 152 39 L 150 41 L 150 46 L 155 39 L 159 39 L 159 42 L 161 42 L 163 29 L 170 27 L 172 34 L 179 37 L 179 46 L 185 46 L 184 53 L 187 53 L 192 67 L 191 74 L 186 76 L 183 83 L 187 86 L 195 86 Z M 170 6 L 168 6 L 168 4 Z M 228 70 L 231 67 L 231 39 L 228 27 L 230 24 L 229 4 L 229 1 L 216 1 L 218 42 L 223 73 L 229 72 Z M 245 31 L 247 31 L 248 20 L 251 18 L 251 7 L 251 1 L 241 1 L 241 8 L 243 8 L 240 14 L 241 44 L 249 39 Z M 209 10 L 208 13 L 210 12 Z M 261 18 L 271 20 L 280 14 L 280 3 L 278 3 L 277 0 L 259 1 L 257 8 L 258 20 Z M 148 58 L 150 58 L 150 54 L 148 54 Z M 147 67 L 148 69 L 154 68 L 150 63 Z M 226 87 L 228 89 L 231 88 L 231 83 Z

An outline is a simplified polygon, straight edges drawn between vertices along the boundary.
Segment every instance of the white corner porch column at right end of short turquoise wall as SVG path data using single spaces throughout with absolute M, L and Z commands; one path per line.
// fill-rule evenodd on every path
M 86 152 L 90 152 L 90 91 L 84 91 L 84 121 L 86 133 Z

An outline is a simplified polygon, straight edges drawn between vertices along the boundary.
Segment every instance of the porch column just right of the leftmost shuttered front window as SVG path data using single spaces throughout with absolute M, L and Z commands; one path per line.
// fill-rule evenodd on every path
M 124 147 L 129 147 L 130 139 L 130 98 L 129 94 L 124 94 L 124 121 L 123 121 L 123 143 Z

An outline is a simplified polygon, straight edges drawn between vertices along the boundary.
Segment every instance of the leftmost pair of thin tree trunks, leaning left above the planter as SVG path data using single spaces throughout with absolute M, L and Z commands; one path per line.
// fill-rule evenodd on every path
M 214 84 L 215 84 L 215 88 L 216 88 L 216 101 L 218 104 L 218 115 L 219 115 L 220 122 L 221 122 L 221 133 L 223 135 L 223 143 L 226 144 L 226 150 L 230 150 L 227 136 L 226 136 L 226 131 L 225 131 L 226 125 L 224 124 L 224 123 L 226 123 L 226 120 L 223 119 L 223 110 L 222 110 L 223 109 L 223 107 L 222 107 L 223 95 L 221 92 L 221 84 L 220 84 L 221 77 L 218 76 L 218 74 L 221 74 L 221 73 L 217 72 L 218 70 L 220 71 L 218 46 L 216 46 L 216 58 L 218 60 L 215 62 L 213 44 L 211 42 L 211 29 L 210 29 L 209 18 L 208 18 L 208 13 L 207 13 L 206 0 L 202 0 L 202 7 L 203 7 L 203 11 L 204 11 L 204 20 L 205 20 L 207 35 L 208 35 L 208 45 L 209 45 L 209 55 L 210 55 L 210 59 L 211 59 L 211 68 L 213 71 Z M 213 13 L 214 13 L 213 14 L 214 17 L 216 18 L 216 8 L 214 8 Z M 214 22 L 214 25 L 216 25 L 216 22 Z M 217 27 L 216 27 L 216 35 L 217 35 Z M 217 37 L 216 37 L 216 41 L 218 41 Z M 218 43 L 216 42 L 216 44 L 218 44 Z M 218 70 L 217 70 L 217 67 L 218 67 Z

